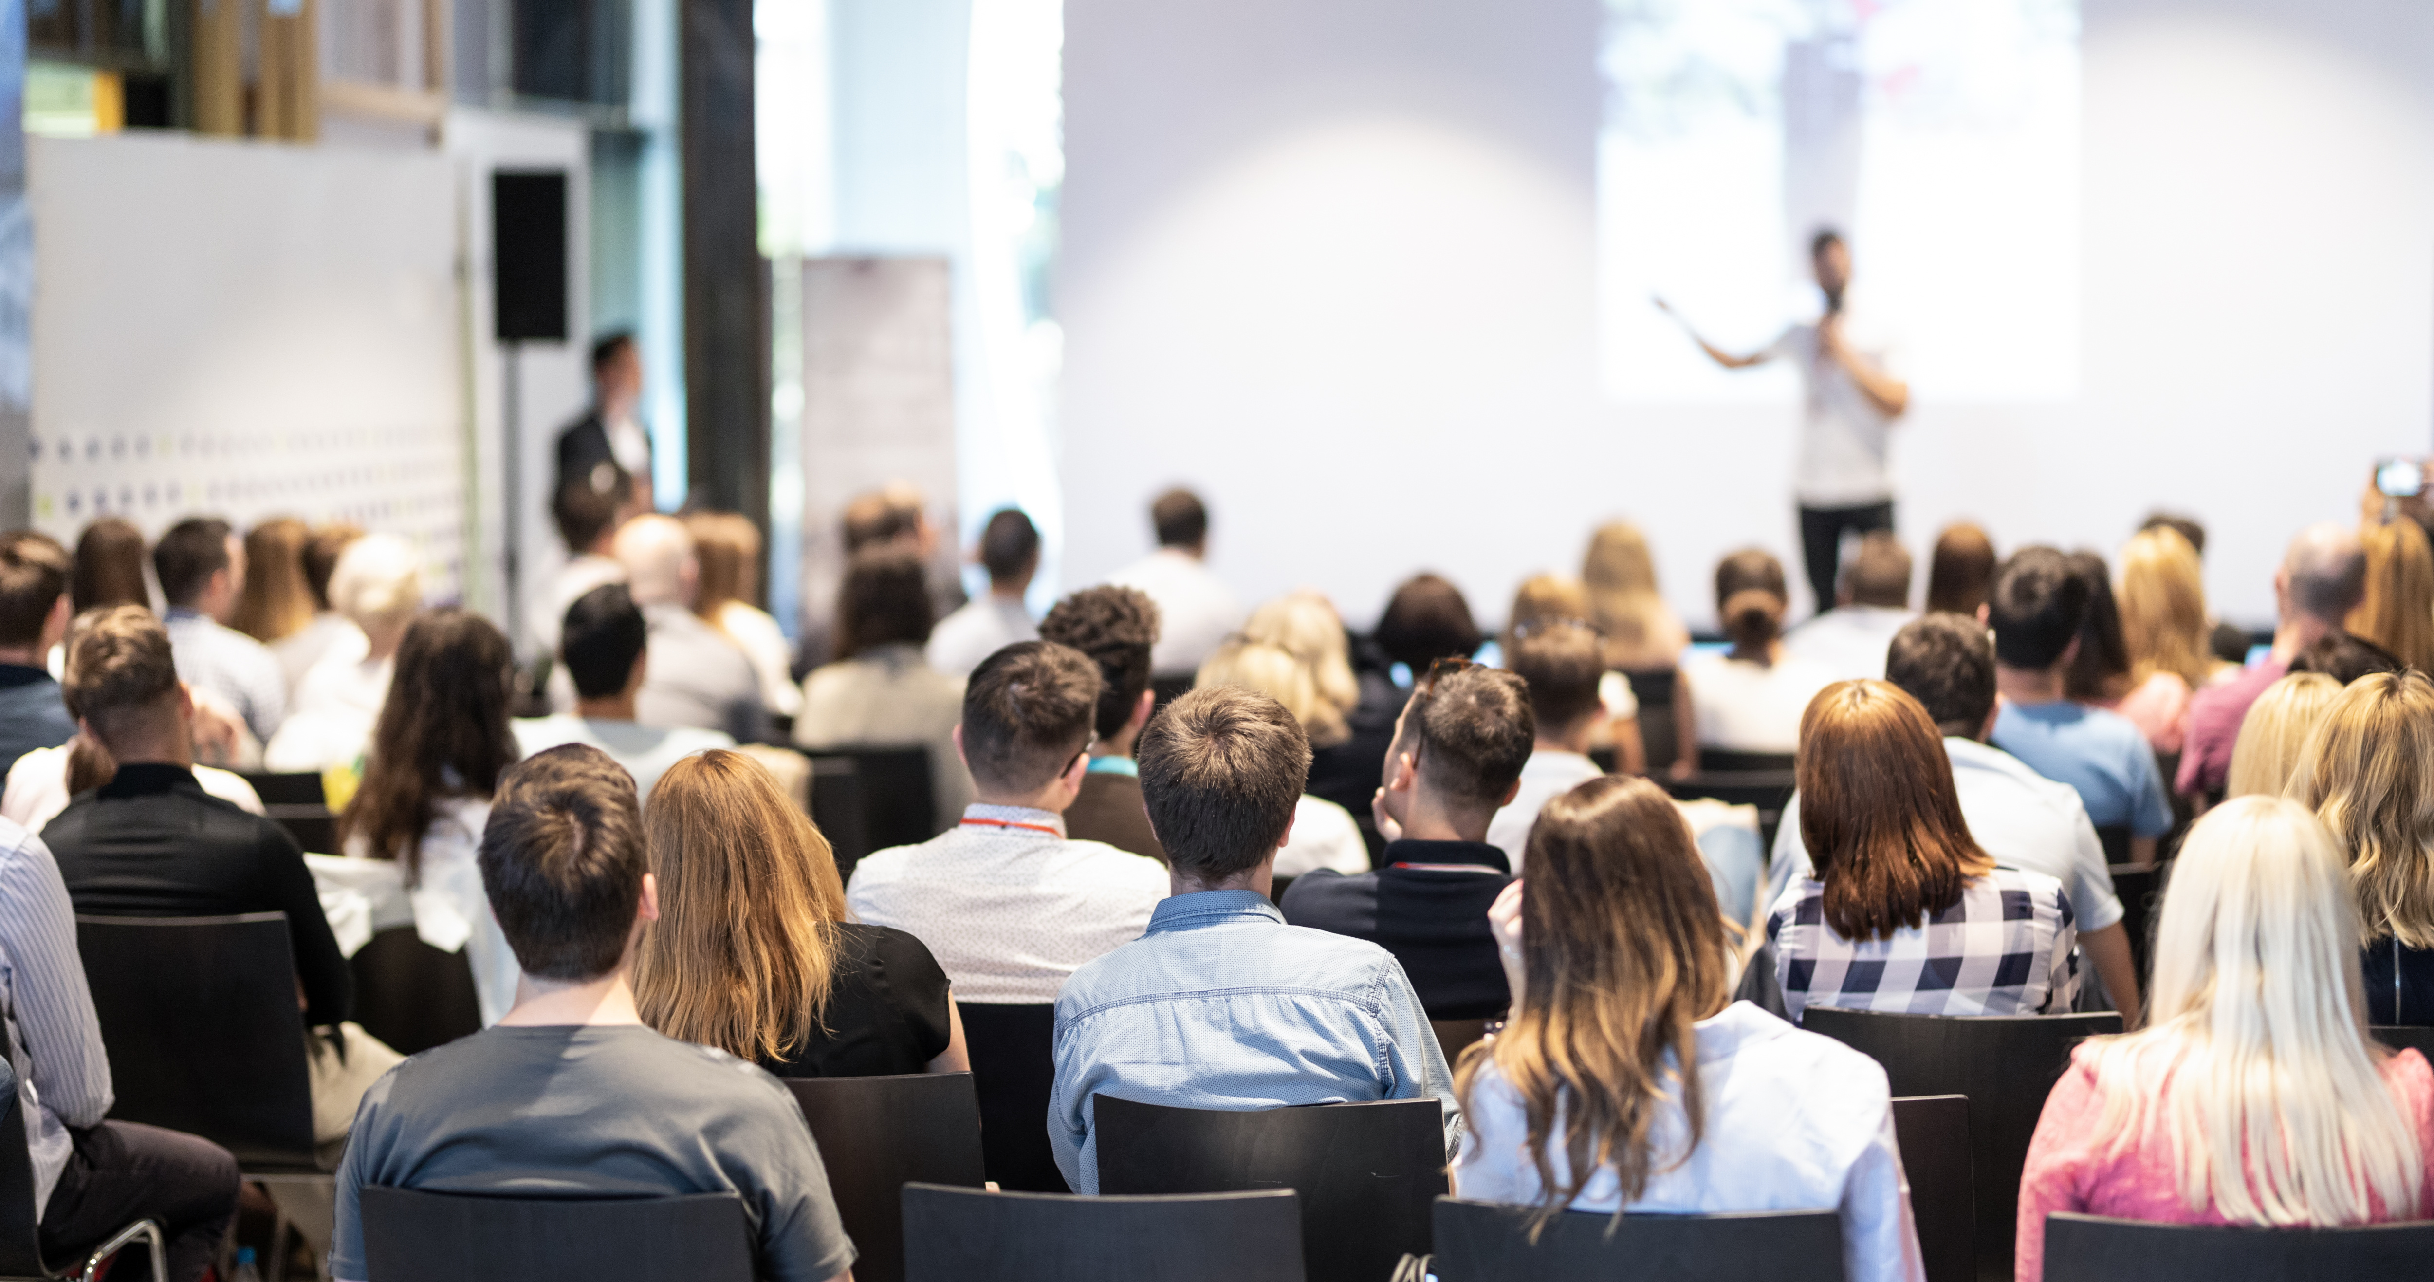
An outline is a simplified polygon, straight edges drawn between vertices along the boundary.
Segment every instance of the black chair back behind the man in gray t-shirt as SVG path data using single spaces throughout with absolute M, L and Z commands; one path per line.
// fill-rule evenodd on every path
M 372 1282 L 752 1282 L 752 1228 L 733 1192 L 691 1197 L 470 1197 L 360 1190 Z

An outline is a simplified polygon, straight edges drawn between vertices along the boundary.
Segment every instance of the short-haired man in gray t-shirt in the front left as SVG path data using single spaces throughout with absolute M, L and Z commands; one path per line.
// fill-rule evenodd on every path
M 370 1277 L 360 1192 L 406 1187 L 730 1194 L 745 1204 L 759 1275 L 847 1282 L 854 1243 L 803 1109 L 776 1078 L 660 1036 L 635 1010 L 635 944 L 660 895 L 626 771 L 574 744 L 521 761 L 499 778 L 479 859 L 523 966 L 516 1010 L 365 1095 L 338 1165 L 329 1272 Z

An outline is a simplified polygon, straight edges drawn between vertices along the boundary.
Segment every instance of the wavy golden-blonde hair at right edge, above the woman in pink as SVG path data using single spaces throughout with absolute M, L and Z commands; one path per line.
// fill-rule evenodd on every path
M 2366 939 L 2434 949 L 2434 681 L 2373 671 L 2334 696 L 2283 793 L 2349 851 Z

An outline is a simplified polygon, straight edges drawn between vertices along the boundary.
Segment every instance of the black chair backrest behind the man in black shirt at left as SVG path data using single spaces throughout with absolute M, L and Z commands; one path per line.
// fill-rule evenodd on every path
M 241 1165 L 314 1163 L 285 912 L 78 917 L 110 1051 L 110 1117 L 190 1131 Z

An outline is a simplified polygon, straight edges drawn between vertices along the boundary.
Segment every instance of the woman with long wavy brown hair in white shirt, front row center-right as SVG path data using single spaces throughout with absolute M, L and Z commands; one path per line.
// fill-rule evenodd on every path
M 1514 1007 L 1456 1073 L 1463 1197 L 1533 1226 L 1835 1207 L 1845 1277 L 1920 1277 L 1884 1070 L 1731 1002 L 1716 893 L 1662 788 L 1604 776 L 1550 800 L 1529 890 L 1490 922 Z

